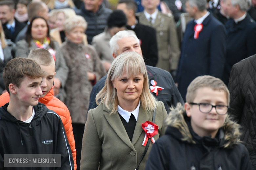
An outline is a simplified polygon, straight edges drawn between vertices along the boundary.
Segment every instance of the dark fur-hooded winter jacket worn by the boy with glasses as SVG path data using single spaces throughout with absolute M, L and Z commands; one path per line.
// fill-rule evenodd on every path
M 202 113 L 204 114 L 204 113 Z M 184 106 L 172 111 L 165 136 L 153 145 L 147 170 L 252 170 L 249 154 L 239 143 L 239 125 L 226 118 L 216 138 L 199 137 Z

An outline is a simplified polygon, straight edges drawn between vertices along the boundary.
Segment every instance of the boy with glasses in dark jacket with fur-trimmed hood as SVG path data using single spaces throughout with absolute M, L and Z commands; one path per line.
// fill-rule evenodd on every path
M 186 101 L 170 112 L 166 135 L 153 145 L 145 169 L 251 170 L 239 125 L 227 115 L 229 91 L 223 81 L 195 78 Z

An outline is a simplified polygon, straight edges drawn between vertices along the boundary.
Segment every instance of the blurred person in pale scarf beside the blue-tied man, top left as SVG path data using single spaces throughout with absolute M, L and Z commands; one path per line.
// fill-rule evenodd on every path
M 27 24 L 28 18 L 28 10 L 27 5 L 29 4 L 28 0 L 19 0 L 16 6 L 15 18 L 21 22 Z

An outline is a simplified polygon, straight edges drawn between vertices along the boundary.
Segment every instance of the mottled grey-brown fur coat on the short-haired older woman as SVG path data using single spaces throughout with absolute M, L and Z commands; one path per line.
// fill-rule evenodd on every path
M 106 72 L 93 46 L 66 40 L 61 49 L 69 68 L 65 105 L 70 111 L 72 123 L 85 124 L 93 84 Z M 95 75 L 96 82 L 88 80 L 87 71 Z

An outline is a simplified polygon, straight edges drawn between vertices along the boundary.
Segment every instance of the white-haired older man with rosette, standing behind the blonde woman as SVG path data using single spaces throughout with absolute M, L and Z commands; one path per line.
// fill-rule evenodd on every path
M 142 57 L 139 39 L 132 32 L 120 31 L 110 39 L 109 43 L 114 58 L 122 53 L 131 51 L 139 53 Z M 177 103 L 184 103 L 181 94 L 175 86 L 173 78 L 169 72 L 148 65 L 146 65 L 146 68 L 148 71 L 151 92 L 158 99 L 158 101 L 162 101 L 164 103 L 167 113 L 169 113 L 169 107 L 175 107 Z M 88 110 L 97 107 L 95 97 L 97 93 L 104 87 L 106 78 L 107 76 L 102 77 L 93 86 Z

